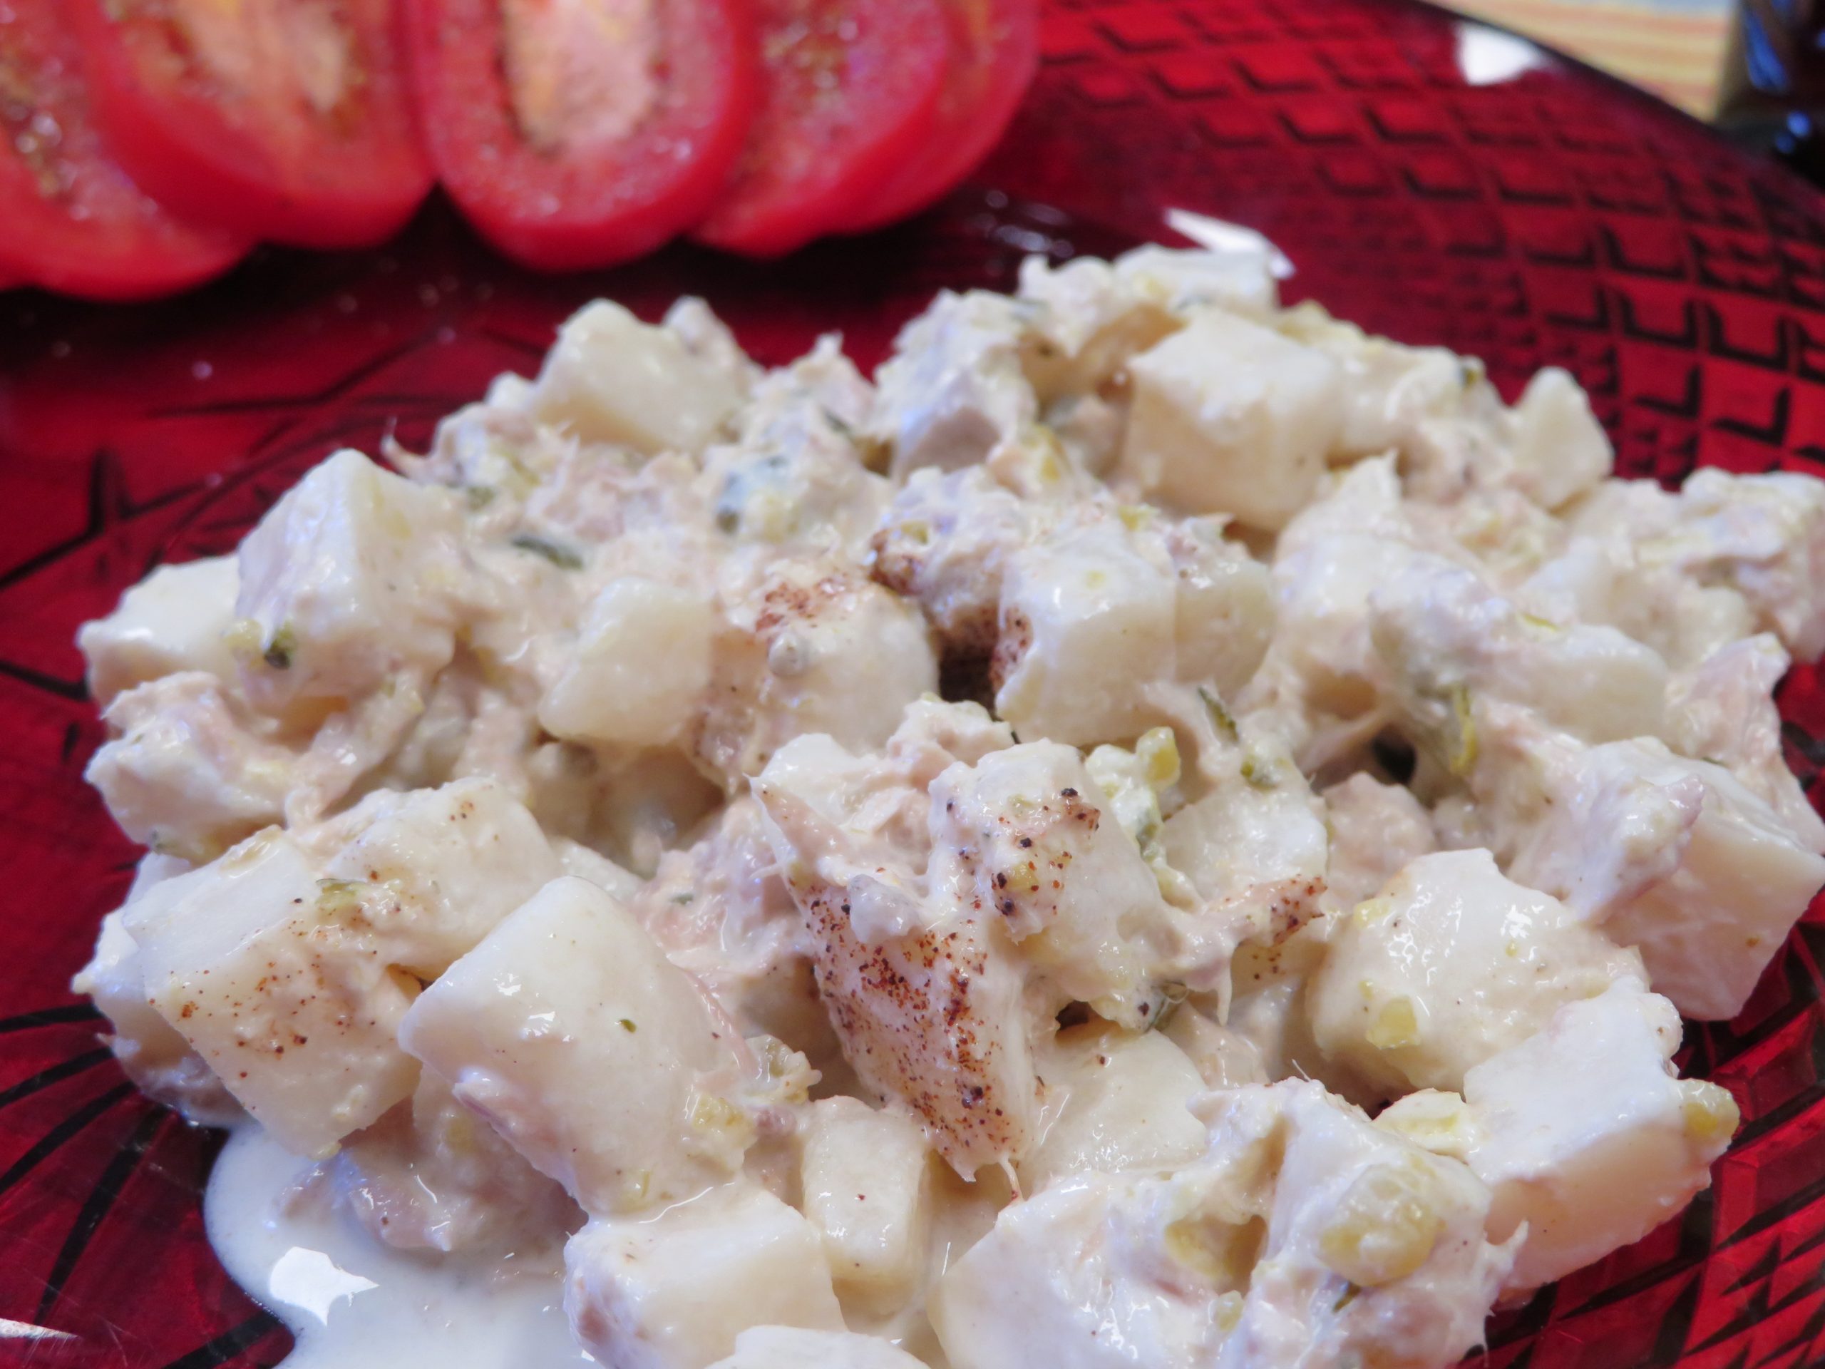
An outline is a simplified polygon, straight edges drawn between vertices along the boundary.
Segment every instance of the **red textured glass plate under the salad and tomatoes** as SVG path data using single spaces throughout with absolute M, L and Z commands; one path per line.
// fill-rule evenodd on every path
M 381 252 L 266 254 L 164 305 L 0 298 L 0 1365 L 288 1345 L 203 1238 L 215 1141 L 131 1092 L 66 988 L 135 858 L 82 783 L 77 624 L 230 549 L 330 449 L 422 444 L 597 294 L 703 294 L 765 361 L 841 329 L 872 363 L 936 287 L 1006 288 L 1027 252 L 1121 250 L 1183 206 L 1281 243 L 1290 296 L 1482 356 L 1509 396 L 1570 367 L 1630 475 L 1825 473 L 1825 197 L 1670 108 L 1400 0 L 1058 0 L 1044 47 L 976 186 L 776 265 L 679 246 L 540 279 L 433 206 Z M 1825 686 L 1781 701 L 1818 796 Z M 1712 1190 L 1498 1318 L 1491 1365 L 1825 1362 L 1821 964 L 1816 909 L 1741 1019 L 1688 1031 L 1745 1117 Z

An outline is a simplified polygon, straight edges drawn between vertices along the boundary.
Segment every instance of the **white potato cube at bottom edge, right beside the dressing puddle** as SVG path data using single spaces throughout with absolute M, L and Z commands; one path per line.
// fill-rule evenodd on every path
M 843 1329 L 818 1228 L 745 1181 L 659 1217 L 591 1221 L 564 1269 L 577 1340 L 617 1369 L 704 1369 L 748 1327 Z

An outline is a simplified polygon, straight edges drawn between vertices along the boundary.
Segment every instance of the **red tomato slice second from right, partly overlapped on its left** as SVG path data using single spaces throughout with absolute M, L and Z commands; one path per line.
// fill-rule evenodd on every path
M 861 212 L 933 131 L 951 64 L 940 0 L 761 0 L 761 108 L 694 237 L 777 256 Z

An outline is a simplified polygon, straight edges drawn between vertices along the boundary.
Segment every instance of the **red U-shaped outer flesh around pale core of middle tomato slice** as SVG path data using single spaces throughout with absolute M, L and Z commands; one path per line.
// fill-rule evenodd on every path
M 515 261 L 610 266 L 664 245 L 715 203 L 757 93 L 746 0 L 653 0 L 657 111 L 622 139 L 555 153 L 516 126 L 495 0 L 402 4 L 431 162 L 469 223 Z

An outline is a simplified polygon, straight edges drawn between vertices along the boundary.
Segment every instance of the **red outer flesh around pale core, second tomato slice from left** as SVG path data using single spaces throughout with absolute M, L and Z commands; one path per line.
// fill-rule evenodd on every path
M 120 18 L 119 0 L 64 4 L 120 164 L 173 210 L 294 246 L 372 246 L 429 193 L 392 0 L 341 5 L 360 80 L 349 100 L 360 108 L 338 102 L 325 115 L 219 97 L 142 4 Z

